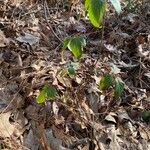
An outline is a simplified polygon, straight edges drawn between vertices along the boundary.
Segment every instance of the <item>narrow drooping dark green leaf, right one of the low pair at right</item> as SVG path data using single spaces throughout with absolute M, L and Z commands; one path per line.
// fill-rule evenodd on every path
M 119 77 L 117 77 L 115 79 L 115 88 L 114 88 L 115 98 L 118 99 L 121 96 L 123 90 L 124 90 L 124 83 Z

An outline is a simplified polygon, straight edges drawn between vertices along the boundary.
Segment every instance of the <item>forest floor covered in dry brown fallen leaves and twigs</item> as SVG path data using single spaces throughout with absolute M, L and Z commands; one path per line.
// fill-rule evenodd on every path
M 71 9 L 70 9 L 71 7 Z M 109 7 L 99 29 L 83 5 L 0 1 L 0 150 L 150 150 L 150 3 Z M 83 35 L 80 60 L 66 37 Z M 75 66 L 75 75 L 64 73 Z M 124 82 L 99 89 L 114 69 Z M 53 100 L 37 103 L 45 84 Z

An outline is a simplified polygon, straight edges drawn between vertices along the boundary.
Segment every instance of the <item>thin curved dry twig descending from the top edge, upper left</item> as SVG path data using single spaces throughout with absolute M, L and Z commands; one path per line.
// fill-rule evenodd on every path
M 48 9 L 48 5 L 47 5 L 47 1 L 45 0 L 44 1 L 44 14 L 45 14 L 45 20 L 47 22 L 47 25 L 48 27 L 50 28 L 50 30 L 52 31 L 52 33 L 54 34 L 54 36 L 62 43 L 63 41 L 58 37 L 58 35 L 55 33 L 55 31 L 53 30 L 52 26 L 50 25 L 50 23 L 48 22 L 48 17 L 47 17 L 47 13 L 49 14 L 50 16 L 50 12 L 49 12 L 49 9 Z

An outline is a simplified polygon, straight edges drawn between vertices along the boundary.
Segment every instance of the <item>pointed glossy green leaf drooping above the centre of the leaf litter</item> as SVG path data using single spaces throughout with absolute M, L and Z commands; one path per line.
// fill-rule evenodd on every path
M 73 37 L 68 43 L 68 49 L 79 59 L 82 56 L 83 46 L 85 44 L 86 41 L 83 37 Z

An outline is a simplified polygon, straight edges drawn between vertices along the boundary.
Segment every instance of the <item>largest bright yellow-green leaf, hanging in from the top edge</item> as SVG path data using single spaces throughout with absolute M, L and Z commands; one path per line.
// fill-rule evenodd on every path
M 105 0 L 86 0 L 85 8 L 88 11 L 91 23 L 95 27 L 99 27 L 106 11 Z

